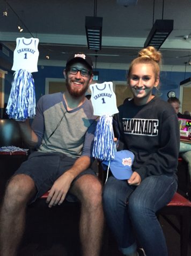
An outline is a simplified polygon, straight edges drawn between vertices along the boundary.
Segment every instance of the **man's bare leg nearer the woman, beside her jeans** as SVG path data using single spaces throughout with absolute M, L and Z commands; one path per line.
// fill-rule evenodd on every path
M 93 175 L 83 175 L 70 192 L 82 204 L 79 232 L 83 256 L 99 256 L 104 226 L 101 183 Z

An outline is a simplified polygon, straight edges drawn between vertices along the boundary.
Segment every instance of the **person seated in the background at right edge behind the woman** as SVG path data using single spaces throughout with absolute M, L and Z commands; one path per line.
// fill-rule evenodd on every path
M 180 109 L 180 101 L 177 97 L 171 97 L 168 100 L 168 103 L 171 104 L 171 106 L 174 108 L 175 113 L 177 113 L 177 116 L 183 119 L 189 119 L 188 115 L 181 114 L 179 112 Z M 188 164 L 188 172 L 191 182 L 191 143 L 184 143 L 180 142 L 180 156 L 185 160 Z M 191 196 L 191 195 L 190 195 Z M 189 196 L 189 197 L 190 197 Z

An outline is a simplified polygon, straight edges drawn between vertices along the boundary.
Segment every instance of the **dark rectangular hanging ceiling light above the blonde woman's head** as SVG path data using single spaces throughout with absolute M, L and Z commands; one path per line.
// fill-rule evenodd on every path
M 155 1 L 153 4 L 153 20 L 155 11 Z M 163 0 L 163 11 L 164 11 L 164 0 Z M 164 43 L 169 34 L 173 31 L 174 20 L 173 19 L 157 19 L 152 26 L 149 36 L 146 38 L 144 48 L 153 46 L 157 50 Z

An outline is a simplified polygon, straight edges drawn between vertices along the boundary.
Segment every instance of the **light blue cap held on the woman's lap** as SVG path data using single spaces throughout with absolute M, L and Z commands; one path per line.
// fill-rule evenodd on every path
M 129 150 L 121 150 L 115 152 L 115 158 L 109 161 L 102 161 L 102 167 L 106 170 L 105 165 L 109 168 L 113 176 L 117 179 L 129 179 L 133 173 L 131 166 L 134 161 L 134 154 Z

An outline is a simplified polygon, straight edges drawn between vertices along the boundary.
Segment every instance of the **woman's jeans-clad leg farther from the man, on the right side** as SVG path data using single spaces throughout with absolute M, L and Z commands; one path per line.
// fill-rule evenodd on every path
M 156 212 L 172 199 L 177 181 L 172 176 L 145 178 L 129 198 L 128 210 L 138 242 L 146 256 L 167 256 L 163 230 Z

